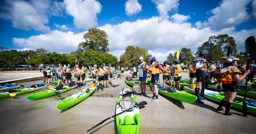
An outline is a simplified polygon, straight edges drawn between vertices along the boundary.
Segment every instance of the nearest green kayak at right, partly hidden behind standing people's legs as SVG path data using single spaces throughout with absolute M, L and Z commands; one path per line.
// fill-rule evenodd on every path
M 189 88 L 189 87 L 184 86 L 183 89 L 184 89 L 185 91 L 188 91 L 188 92 L 190 92 L 190 93 L 195 94 L 195 90 L 193 90 L 193 89 L 191 89 L 191 88 Z M 219 92 L 204 90 L 204 97 L 205 97 L 206 99 L 209 99 L 209 100 L 212 100 L 212 101 L 215 101 L 215 102 L 220 103 L 221 100 L 222 100 L 225 96 L 224 96 L 224 94 L 219 93 Z M 233 103 L 232 103 L 232 107 L 242 110 L 244 99 L 243 99 L 243 98 L 240 98 L 240 97 L 235 97 L 235 99 L 236 99 L 236 100 L 233 101 Z M 248 101 L 248 102 L 250 102 L 250 103 L 256 105 L 256 101 L 247 100 L 247 99 L 246 99 L 246 101 Z M 256 115 L 256 107 L 255 107 L 255 106 L 247 105 L 247 107 L 248 107 L 248 113 L 251 113 L 251 114 Z

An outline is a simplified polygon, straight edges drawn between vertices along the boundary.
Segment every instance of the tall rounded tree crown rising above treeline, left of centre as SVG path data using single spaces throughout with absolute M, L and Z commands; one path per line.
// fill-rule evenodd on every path
M 83 38 L 86 39 L 85 42 L 81 42 L 78 44 L 78 51 L 100 51 L 100 52 L 108 52 L 109 40 L 108 35 L 105 31 L 90 28 L 89 31 L 83 35 Z

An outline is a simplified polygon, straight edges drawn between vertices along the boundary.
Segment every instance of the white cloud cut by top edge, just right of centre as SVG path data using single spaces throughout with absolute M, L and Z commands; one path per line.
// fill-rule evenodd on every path
M 157 5 L 157 10 L 162 19 L 169 18 L 168 13 L 170 11 L 177 11 L 179 6 L 179 0 L 151 0 Z

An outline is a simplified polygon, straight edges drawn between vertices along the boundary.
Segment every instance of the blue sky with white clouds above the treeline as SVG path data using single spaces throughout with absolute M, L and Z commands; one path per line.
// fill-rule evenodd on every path
M 145 48 L 158 61 L 182 48 L 196 52 L 210 36 L 228 34 L 245 51 L 256 35 L 256 0 L 0 1 L 0 46 L 71 53 L 90 28 L 108 34 L 109 53 Z

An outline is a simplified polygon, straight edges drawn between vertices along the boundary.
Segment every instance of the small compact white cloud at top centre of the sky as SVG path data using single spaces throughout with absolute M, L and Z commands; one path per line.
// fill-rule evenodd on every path
M 125 14 L 134 15 L 141 11 L 141 5 L 138 3 L 138 0 L 128 0 L 125 3 Z

